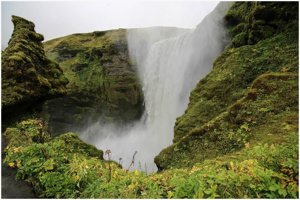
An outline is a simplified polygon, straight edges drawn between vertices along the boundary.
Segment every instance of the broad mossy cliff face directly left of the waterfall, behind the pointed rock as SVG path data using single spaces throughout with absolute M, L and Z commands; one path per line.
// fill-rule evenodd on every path
M 158 29 L 162 34 L 153 42 L 186 31 L 175 27 Z M 140 118 L 143 93 L 137 67 L 129 58 L 127 31 L 119 28 L 72 34 L 44 43 L 46 55 L 61 65 L 70 80 L 66 96 L 43 106 L 42 115 L 54 130 L 80 131 L 88 121 L 123 124 Z M 140 42 L 143 43 L 142 37 Z

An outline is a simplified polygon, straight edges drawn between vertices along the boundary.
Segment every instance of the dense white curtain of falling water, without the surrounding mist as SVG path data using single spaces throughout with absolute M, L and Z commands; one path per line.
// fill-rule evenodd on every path
M 191 80 L 185 76 L 190 70 L 186 58 L 191 55 L 193 33 L 194 30 L 191 30 L 179 37 L 161 40 L 154 43 L 149 51 L 143 70 L 146 114 L 148 123 L 154 123 L 161 129 L 166 128 L 162 121 L 173 126 L 172 122 L 187 107 L 190 91 L 184 91 L 184 85 Z

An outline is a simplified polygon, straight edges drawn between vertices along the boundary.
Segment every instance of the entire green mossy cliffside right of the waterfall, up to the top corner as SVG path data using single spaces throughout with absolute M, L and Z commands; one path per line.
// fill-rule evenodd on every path
M 263 16 L 257 14 L 259 9 Z M 225 19 L 232 35 L 230 47 L 235 49 L 227 49 L 217 57 L 213 70 L 191 92 L 185 113 L 176 118 L 173 145 L 155 157 L 159 169 L 191 167 L 204 159 L 235 152 L 247 142 L 280 143 L 280 137 L 289 131 L 279 131 L 282 123 L 297 130 L 298 14 L 295 13 L 298 3 L 292 2 L 232 4 Z M 257 24 L 261 17 L 265 19 L 264 25 Z M 252 21 L 247 25 L 249 39 L 239 46 L 235 41 L 244 32 L 237 28 L 244 23 L 242 19 Z M 277 29 L 272 26 L 274 32 L 264 35 L 271 22 L 278 24 Z M 251 34 L 255 33 L 257 37 L 253 39 Z

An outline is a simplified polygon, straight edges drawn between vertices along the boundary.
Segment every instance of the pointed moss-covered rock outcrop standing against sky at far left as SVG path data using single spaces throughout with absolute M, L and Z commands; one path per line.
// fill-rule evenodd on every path
M 1 111 L 21 111 L 37 101 L 66 94 L 69 82 L 57 62 L 49 60 L 35 25 L 12 16 L 14 30 L 1 53 Z

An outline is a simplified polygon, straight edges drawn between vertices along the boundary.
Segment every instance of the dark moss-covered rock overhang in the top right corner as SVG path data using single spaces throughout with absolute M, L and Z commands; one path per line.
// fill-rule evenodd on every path
M 296 2 L 243 2 L 232 4 L 225 14 L 232 47 L 254 45 L 298 25 Z

